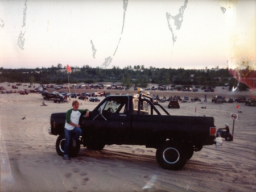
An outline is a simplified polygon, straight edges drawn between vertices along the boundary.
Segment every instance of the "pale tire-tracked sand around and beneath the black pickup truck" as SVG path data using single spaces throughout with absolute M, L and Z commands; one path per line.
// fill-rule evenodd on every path
M 11 90 L 7 83 L 0 86 Z M 205 95 L 203 90 L 157 93 L 161 97 L 164 94 L 196 96 L 202 101 Z M 203 147 L 183 169 L 172 171 L 158 165 L 156 149 L 137 145 L 106 145 L 102 151 L 81 147 L 77 157 L 64 161 L 55 150 L 57 136 L 49 135 L 47 129 L 50 115 L 66 112 L 71 103 L 45 101 L 47 106 L 42 106 L 40 94 L 0 94 L 1 191 L 256 191 L 256 107 L 244 103 L 212 103 L 213 95 L 255 96 L 249 91 L 230 92 L 227 87 L 216 87 L 216 93 L 207 93 L 208 102 L 180 103 L 179 109 L 168 109 L 168 103 L 163 103 L 172 115 L 214 116 L 217 128 L 229 123 L 232 130 L 230 115 L 238 114 L 234 141 L 224 140 L 222 148 Z M 81 103 L 80 108 L 90 110 L 98 105 L 89 101 Z

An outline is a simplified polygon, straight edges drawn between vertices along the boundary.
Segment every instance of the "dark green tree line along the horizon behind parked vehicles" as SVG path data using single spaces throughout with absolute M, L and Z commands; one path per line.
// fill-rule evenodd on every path
M 136 65 L 134 68 L 126 66 L 121 69 L 113 66 L 112 69 L 92 68 L 89 65 L 82 67 L 71 66 L 72 72 L 68 74 L 66 66 L 57 64 L 51 68 L 35 69 L 4 69 L 0 68 L 1 82 L 29 82 L 30 84 L 67 84 L 80 83 L 93 84 L 95 82 L 122 82 L 123 86 L 147 87 L 149 83 L 162 85 L 194 85 L 194 86 L 224 86 L 225 84 L 237 85 L 237 80 L 232 78 L 226 69 L 197 70 L 197 69 L 172 69 L 172 68 L 144 68 Z M 247 89 L 240 83 L 239 89 Z

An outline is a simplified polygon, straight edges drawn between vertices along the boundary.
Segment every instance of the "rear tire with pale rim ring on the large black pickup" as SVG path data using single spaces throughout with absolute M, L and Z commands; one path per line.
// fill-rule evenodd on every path
M 156 161 L 163 169 L 179 170 L 188 160 L 188 155 L 181 144 L 174 141 L 166 141 L 156 149 Z

